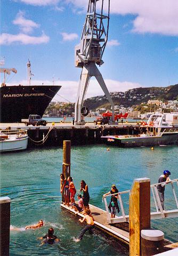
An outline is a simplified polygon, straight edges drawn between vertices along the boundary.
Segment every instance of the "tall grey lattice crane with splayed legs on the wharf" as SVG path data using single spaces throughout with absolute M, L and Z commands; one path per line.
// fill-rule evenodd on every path
M 107 14 L 104 12 L 106 6 Z M 96 65 L 101 66 L 104 63 L 102 55 L 108 41 L 109 11 L 110 0 L 89 0 L 80 44 L 75 47 L 75 67 L 82 68 L 75 103 L 75 124 L 84 124 L 84 121 L 81 120 L 81 108 L 92 76 L 95 76 L 104 94 L 106 94 L 112 106 L 112 121 L 115 120 L 114 102 L 98 67 L 96 67 Z M 85 110 L 83 107 L 83 115 L 85 115 Z

